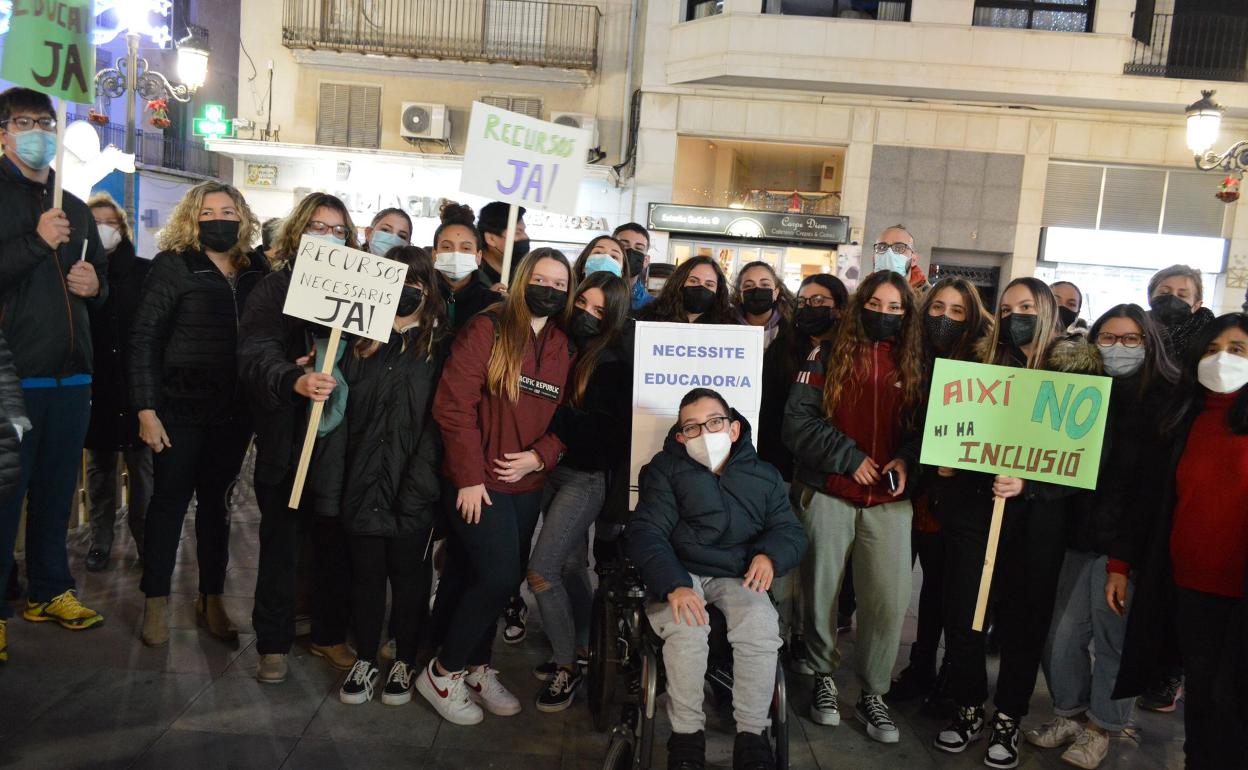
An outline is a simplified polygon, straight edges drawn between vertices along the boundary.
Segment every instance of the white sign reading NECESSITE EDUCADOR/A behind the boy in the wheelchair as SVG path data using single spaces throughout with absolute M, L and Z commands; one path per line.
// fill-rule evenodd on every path
M 629 508 L 636 505 L 641 467 L 663 449 L 689 391 L 718 392 L 758 441 L 765 347 L 761 326 L 638 321 L 634 339 Z

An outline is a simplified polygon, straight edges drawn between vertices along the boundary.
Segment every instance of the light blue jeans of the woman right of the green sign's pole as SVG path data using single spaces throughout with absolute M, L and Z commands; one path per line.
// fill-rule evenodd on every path
M 1108 557 L 1101 554 L 1066 552 L 1043 666 L 1055 714 L 1076 716 L 1087 711 L 1097 726 L 1117 733 L 1131 720 L 1134 699 L 1109 698 L 1122 664 L 1127 618 L 1114 614 L 1104 600 L 1107 562 Z M 1134 593 L 1134 585 L 1128 584 L 1128 613 Z M 1093 655 L 1088 655 L 1088 645 Z

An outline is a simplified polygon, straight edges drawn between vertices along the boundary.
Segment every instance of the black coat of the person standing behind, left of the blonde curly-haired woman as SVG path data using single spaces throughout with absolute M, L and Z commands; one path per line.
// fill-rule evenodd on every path
M 85 447 L 119 452 L 142 447 L 139 418 L 130 406 L 130 331 L 151 262 L 135 256 L 129 240 L 109 255 L 109 300 L 91 309 L 91 424 Z

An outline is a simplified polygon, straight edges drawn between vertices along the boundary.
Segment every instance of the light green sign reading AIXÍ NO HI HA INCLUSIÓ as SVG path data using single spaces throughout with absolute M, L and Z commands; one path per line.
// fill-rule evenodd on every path
M 938 358 L 921 462 L 1094 489 L 1109 382 Z

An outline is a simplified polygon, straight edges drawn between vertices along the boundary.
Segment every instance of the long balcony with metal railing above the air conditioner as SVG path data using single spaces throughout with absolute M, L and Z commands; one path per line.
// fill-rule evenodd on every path
M 594 70 L 600 11 L 543 0 L 283 0 L 288 49 Z

